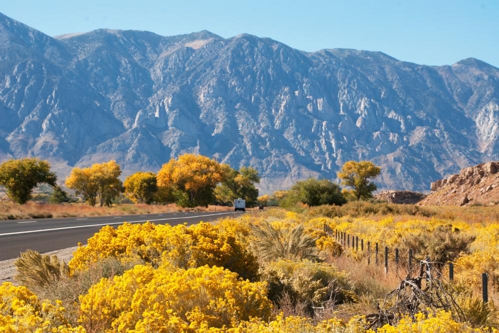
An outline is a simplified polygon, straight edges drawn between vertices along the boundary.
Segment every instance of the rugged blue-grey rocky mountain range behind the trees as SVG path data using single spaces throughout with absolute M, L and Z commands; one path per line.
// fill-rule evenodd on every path
M 39 156 L 64 177 L 116 159 L 125 175 L 184 152 L 251 165 L 263 192 L 348 160 L 380 189 L 499 159 L 499 69 L 425 66 L 381 52 L 303 52 L 208 31 L 47 36 L 0 14 L 0 159 Z

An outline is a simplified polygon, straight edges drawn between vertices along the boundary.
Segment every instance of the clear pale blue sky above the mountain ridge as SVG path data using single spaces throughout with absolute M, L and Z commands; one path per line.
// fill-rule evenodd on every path
M 271 37 L 305 51 L 375 50 L 429 65 L 476 57 L 499 67 L 499 0 L 2 0 L 0 11 L 49 35 L 206 29 Z

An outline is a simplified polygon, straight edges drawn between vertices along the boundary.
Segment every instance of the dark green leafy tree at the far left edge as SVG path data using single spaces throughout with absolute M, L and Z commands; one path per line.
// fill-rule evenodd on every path
M 0 164 L 0 185 L 13 202 L 24 204 L 41 183 L 56 186 L 57 177 L 50 164 L 38 158 L 11 159 Z

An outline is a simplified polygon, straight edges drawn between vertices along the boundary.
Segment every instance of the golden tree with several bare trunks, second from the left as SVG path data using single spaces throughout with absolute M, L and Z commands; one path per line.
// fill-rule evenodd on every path
M 96 163 L 89 168 L 74 168 L 66 179 L 66 186 L 83 195 L 85 201 L 95 206 L 97 198 L 100 206 L 111 205 L 123 189 L 121 168 L 116 161 Z

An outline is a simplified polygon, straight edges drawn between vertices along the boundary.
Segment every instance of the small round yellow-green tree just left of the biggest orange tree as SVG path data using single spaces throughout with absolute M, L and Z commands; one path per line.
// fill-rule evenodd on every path
M 136 172 L 125 179 L 125 195 L 134 203 L 151 204 L 158 191 L 156 175 L 152 172 Z

